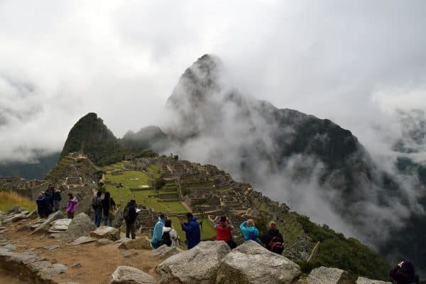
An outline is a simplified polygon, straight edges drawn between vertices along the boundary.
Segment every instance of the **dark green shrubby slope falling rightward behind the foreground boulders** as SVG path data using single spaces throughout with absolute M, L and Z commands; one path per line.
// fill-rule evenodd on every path
M 337 267 L 352 275 L 364 276 L 371 279 L 388 280 L 391 269 L 389 263 L 377 253 L 374 253 L 360 241 L 337 234 L 327 225 L 317 225 L 309 217 L 296 213 L 298 222 L 312 241 L 320 241 L 320 249 L 311 263 L 299 263 L 303 273 L 309 273 L 320 266 Z

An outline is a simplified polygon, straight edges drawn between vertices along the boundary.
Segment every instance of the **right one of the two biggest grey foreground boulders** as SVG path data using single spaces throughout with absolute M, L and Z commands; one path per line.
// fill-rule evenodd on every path
M 300 267 L 284 256 L 272 253 L 256 241 L 247 241 L 231 251 L 219 267 L 219 284 L 298 283 Z

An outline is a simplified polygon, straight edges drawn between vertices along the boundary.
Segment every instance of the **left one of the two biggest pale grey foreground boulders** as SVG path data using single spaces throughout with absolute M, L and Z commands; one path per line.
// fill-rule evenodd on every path
M 160 283 L 214 284 L 220 261 L 230 251 L 224 241 L 202 241 L 183 253 L 170 256 L 155 271 Z

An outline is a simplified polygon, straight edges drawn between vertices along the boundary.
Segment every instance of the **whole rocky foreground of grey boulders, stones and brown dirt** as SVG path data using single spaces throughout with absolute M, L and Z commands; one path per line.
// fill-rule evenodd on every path
M 0 212 L 0 284 L 385 284 L 324 267 L 301 279 L 296 263 L 254 241 L 232 251 L 223 241 L 202 241 L 182 251 L 123 237 L 95 228 L 84 213 L 70 221 L 60 212 L 47 219 L 19 208 Z

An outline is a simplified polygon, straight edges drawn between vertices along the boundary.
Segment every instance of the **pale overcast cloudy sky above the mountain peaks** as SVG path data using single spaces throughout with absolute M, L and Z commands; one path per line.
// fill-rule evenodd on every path
M 244 93 L 377 152 L 395 108 L 426 110 L 425 1 L 229 2 L 0 0 L 0 160 L 60 150 L 89 111 L 116 136 L 159 124 L 204 53 Z

